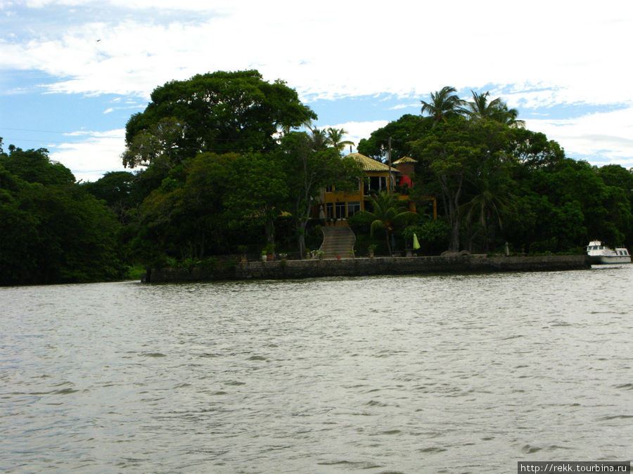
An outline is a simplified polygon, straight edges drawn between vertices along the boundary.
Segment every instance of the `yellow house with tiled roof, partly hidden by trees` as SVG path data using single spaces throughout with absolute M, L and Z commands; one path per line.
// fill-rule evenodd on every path
M 321 190 L 313 216 L 326 221 L 326 225 L 347 225 L 350 218 L 358 211 L 364 211 L 369 207 L 369 198 L 381 191 L 393 192 L 395 183 L 399 182 L 399 171 L 393 166 L 377 162 L 364 154 L 352 153 L 348 155 L 355 159 L 361 166 L 365 178 L 359 181 L 357 190 L 337 192 L 334 187 L 326 187 Z M 400 196 L 406 199 L 408 196 Z M 409 210 L 415 211 L 415 204 L 409 202 Z

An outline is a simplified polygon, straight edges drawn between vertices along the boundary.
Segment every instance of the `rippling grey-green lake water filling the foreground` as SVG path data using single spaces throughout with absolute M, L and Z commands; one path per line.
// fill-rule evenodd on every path
M 0 469 L 629 460 L 632 284 L 621 265 L 0 288 Z

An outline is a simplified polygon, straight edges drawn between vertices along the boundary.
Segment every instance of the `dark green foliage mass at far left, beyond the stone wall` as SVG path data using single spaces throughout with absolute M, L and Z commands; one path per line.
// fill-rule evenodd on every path
M 32 166 L 32 176 L 46 184 L 10 173 L 4 168 L 6 154 L 0 155 L 0 284 L 124 277 L 114 214 L 82 186 L 68 183 L 68 173 L 56 164 L 46 169 L 45 152 L 18 150 L 11 154 L 31 158 L 22 162 L 20 174 L 29 175 Z M 51 183 L 51 176 L 63 179 Z

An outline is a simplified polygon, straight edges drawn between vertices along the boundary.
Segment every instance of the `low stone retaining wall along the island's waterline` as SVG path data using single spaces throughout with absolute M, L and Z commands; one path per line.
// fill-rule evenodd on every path
M 238 262 L 215 269 L 164 268 L 151 270 L 143 281 L 204 282 L 221 279 L 298 279 L 314 277 L 361 277 L 366 275 L 411 275 L 416 273 L 534 272 L 591 268 L 584 255 L 541 257 L 377 257 L 341 260 L 288 260 Z

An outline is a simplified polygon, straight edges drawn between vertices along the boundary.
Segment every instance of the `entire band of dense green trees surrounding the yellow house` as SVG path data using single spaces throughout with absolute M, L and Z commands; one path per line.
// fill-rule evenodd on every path
M 357 244 L 391 254 L 416 234 L 433 253 L 633 246 L 632 170 L 568 159 L 503 100 L 472 96 L 442 88 L 421 115 L 361 140 L 373 159 L 384 161 L 389 143 L 393 161 L 416 159 L 407 194 L 418 214 L 409 220 L 395 195 L 374 197 L 350 218 Z M 75 183 L 45 149 L 4 152 L 0 139 L 0 284 L 115 279 L 134 262 L 192 265 L 274 245 L 305 256 L 307 239 L 320 242 L 321 190 L 355 190 L 363 178 L 341 157 L 345 130 L 293 131 L 315 117 L 282 81 L 214 72 L 156 88 L 129 119 L 122 159 L 134 173 Z

